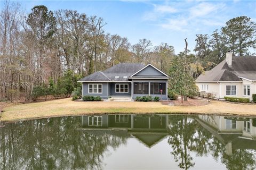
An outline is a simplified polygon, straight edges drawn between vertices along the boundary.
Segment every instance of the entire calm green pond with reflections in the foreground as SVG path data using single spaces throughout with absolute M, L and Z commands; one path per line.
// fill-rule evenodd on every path
M 255 169 L 256 119 L 48 118 L 0 128 L 0 169 Z

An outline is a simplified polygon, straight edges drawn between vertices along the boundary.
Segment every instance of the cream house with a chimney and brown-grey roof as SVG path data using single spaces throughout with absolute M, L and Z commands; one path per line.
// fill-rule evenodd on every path
M 196 79 L 199 91 L 216 94 L 215 98 L 245 97 L 256 94 L 256 57 L 237 57 L 231 52 L 226 60 Z

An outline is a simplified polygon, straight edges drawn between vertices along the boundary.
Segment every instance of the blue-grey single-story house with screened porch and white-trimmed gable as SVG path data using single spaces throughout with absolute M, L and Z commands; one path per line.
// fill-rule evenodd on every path
M 82 95 L 100 96 L 103 99 L 158 96 L 167 99 L 168 75 L 155 66 L 138 63 L 119 63 L 105 71 L 97 71 L 82 82 Z

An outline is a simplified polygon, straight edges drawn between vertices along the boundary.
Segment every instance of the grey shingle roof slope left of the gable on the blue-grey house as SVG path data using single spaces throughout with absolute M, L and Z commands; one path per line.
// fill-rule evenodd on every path
M 144 66 L 139 63 L 119 63 L 105 71 L 97 71 L 90 74 L 79 81 L 128 81 L 130 75 L 139 71 Z

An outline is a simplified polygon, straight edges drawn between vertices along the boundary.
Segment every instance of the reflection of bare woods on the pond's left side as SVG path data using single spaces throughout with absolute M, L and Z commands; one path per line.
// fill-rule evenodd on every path
M 8 124 L 0 129 L 0 169 L 101 169 L 108 146 L 127 137 L 78 131 L 81 117 Z

